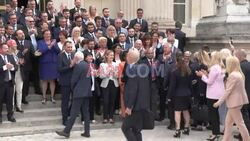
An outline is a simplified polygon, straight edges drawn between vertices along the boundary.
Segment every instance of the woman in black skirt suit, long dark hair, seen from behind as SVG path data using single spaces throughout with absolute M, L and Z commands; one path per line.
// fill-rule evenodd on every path
M 174 137 L 180 137 L 181 114 L 184 116 L 185 128 L 183 134 L 189 135 L 190 105 L 192 96 L 192 75 L 189 66 L 184 62 L 182 53 L 176 54 L 176 69 L 170 78 L 168 101 L 173 101 L 175 110 L 176 132 Z

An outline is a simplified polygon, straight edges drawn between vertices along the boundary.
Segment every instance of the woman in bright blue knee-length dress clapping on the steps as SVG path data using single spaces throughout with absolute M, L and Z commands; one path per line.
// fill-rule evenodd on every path
M 55 103 L 55 79 L 58 77 L 57 72 L 57 56 L 60 53 L 56 40 L 51 39 L 51 32 L 45 30 L 43 32 L 43 40 L 38 41 L 39 74 L 42 81 L 43 100 L 46 103 L 46 91 L 48 84 L 50 85 L 51 101 Z

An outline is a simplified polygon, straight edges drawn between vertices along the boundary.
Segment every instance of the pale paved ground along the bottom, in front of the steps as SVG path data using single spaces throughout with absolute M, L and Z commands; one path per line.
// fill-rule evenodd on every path
M 143 131 L 143 141 L 205 141 L 210 131 L 194 132 L 181 139 L 173 138 L 174 131 L 166 130 L 165 126 L 157 126 L 154 130 Z M 64 139 L 55 133 L 35 134 L 26 136 L 3 137 L 0 141 L 126 141 L 120 129 L 92 130 L 91 138 L 83 138 L 80 131 L 71 132 L 70 139 Z

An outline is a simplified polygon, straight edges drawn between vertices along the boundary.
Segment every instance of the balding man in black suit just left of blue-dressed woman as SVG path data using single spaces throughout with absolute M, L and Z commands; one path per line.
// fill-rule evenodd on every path
M 19 57 L 24 59 L 24 64 L 20 65 L 21 76 L 23 79 L 23 90 L 22 90 L 22 103 L 28 104 L 26 97 L 29 94 L 30 77 L 32 70 L 32 59 L 31 56 L 35 53 L 33 45 L 30 40 L 25 40 L 25 35 L 22 30 L 16 31 L 16 42 L 17 49 L 19 50 Z M 34 75 L 32 76 L 35 77 Z

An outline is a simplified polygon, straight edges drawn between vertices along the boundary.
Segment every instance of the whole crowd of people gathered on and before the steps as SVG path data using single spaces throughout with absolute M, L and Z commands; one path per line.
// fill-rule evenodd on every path
M 120 114 L 126 138 L 140 141 L 143 122 L 138 120 L 150 110 L 159 122 L 168 115 L 168 129 L 176 130 L 176 138 L 207 128 L 212 130 L 207 140 L 217 140 L 224 131 L 223 141 L 229 141 L 235 123 L 240 131 L 235 137 L 249 141 L 245 50 L 231 44 L 210 51 L 204 45 L 192 53 L 185 48 L 181 22 L 161 32 L 157 22 L 148 25 L 141 8 L 128 21 L 123 11 L 111 18 L 109 8 L 99 16 L 95 6 L 82 8 L 81 0 L 74 0 L 72 9 L 62 4 L 58 12 L 52 0 L 46 11 L 39 11 L 35 0 L 28 0 L 25 9 L 17 5 L 11 0 L 0 16 L 1 123 L 3 103 L 11 122 L 16 122 L 14 111 L 24 112 L 32 82 L 45 106 L 47 93 L 56 103 L 60 89 L 65 129 L 57 134 L 65 137 L 80 113 L 84 137 L 90 137 L 96 114 L 103 115 L 103 124 L 114 124 L 114 115 Z M 197 110 L 207 116 L 197 118 Z

